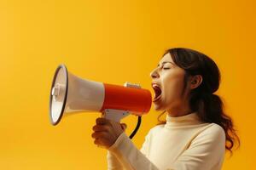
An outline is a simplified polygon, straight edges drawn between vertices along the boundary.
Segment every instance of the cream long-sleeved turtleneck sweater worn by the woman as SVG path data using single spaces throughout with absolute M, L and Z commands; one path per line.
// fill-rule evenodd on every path
M 218 170 L 225 153 L 225 133 L 197 113 L 171 117 L 150 129 L 141 150 L 121 133 L 108 148 L 108 170 Z

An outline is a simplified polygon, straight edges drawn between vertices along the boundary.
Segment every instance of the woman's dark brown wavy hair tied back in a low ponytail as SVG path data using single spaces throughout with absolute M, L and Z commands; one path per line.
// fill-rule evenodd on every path
M 226 136 L 225 148 L 232 155 L 231 149 L 235 142 L 238 144 L 237 147 L 240 146 L 240 139 L 231 117 L 224 113 L 222 99 L 217 94 L 213 94 L 218 90 L 220 82 L 218 66 L 207 55 L 189 48 L 171 48 L 166 50 L 165 54 L 171 54 L 173 62 L 185 71 L 183 89 L 187 86 L 189 76 L 201 75 L 203 80 L 201 85 L 190 91 L 189 107 L 197 112 L 202 122 L 213 122 L 223 127 Z M 165 121 L 160 121 L 160 116 L 158 116 L 158 124 L 165 124 Z

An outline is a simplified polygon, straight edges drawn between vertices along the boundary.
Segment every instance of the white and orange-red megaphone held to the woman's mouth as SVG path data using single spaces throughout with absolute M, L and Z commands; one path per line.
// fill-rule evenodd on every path
M 124 86 L 95 82 L 74 76 L 65 65 L 59 65 L 51 85 L 49 117 L 52 125 L 61 121 L 63 114 L 102 112 L 102 116 L 119 122 L 125 116 L 142 116 L 152 104 L 151 93 L 138 84 Z

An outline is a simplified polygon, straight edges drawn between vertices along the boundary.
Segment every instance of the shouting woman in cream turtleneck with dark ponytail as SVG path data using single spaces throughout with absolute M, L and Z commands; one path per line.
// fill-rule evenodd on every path
M 239 138 L 224 114 L 218 66 L 189 48 L 171 48 L 150 73 L 154 109 L 166 121 L 150 129 L 141 150 L 124 133 L 125 124 L 96 119 L 92 138 L 108 149 L 108 169 L 221 169 L 225 149 Z

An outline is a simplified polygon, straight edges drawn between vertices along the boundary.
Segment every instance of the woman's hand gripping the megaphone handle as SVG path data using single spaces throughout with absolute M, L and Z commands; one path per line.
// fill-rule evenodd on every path
M 125 123 L 114 122 L 106 118 L 97 118 L 96 125 L 92 127 L 94 133 L 91 134 L 91 137 L 95 139 L 94 144 L 102 146 L 105 149 L 108 149 L 119 135 L 125 131 Z

